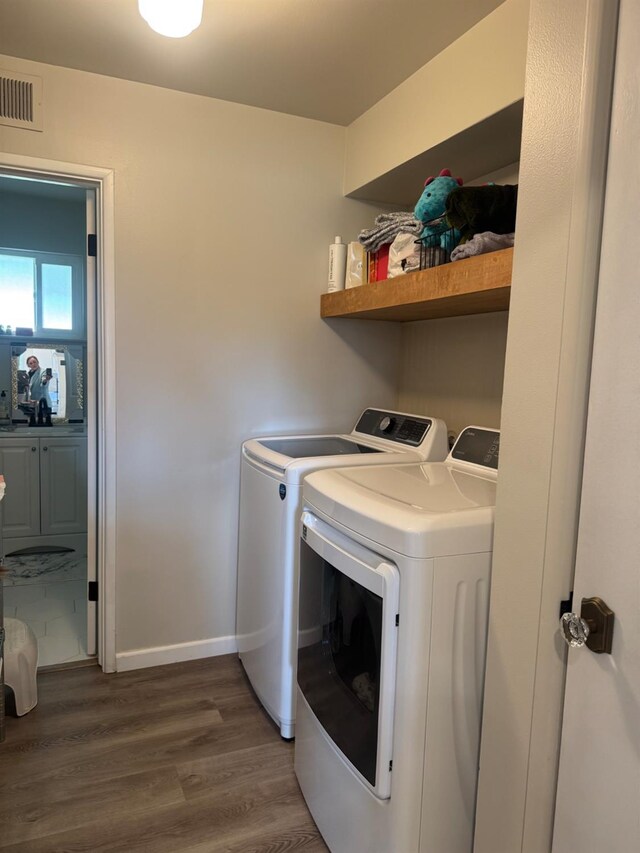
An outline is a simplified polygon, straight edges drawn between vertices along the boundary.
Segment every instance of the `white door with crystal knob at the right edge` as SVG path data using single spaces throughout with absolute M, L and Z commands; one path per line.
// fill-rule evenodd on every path
M 640 4 L 620 15 L 573 597 L 615 622 L 611 654 L 569 650 L 554 853 L 640 850 Z

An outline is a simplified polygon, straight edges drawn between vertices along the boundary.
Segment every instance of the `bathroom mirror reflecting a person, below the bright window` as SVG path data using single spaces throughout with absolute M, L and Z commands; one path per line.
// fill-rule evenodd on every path
M 11 346 L 11 423 L 84 423 L 82 344 L 38 341 Z

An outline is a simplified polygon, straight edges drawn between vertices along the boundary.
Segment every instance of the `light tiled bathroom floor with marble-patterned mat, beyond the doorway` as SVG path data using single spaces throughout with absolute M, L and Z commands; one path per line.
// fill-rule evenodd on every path
M 22 619 L 38 638 L 38 666 L 85 660 L 86 559 L 38 554 L 7 557 L 4 614 Z

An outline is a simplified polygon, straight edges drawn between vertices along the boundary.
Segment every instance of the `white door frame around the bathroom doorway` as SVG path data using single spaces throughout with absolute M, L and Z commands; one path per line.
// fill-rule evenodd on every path
M 95 370 L 87 371 L 87 400 L 96 412 L 88 435 L 89 524 L 95 523 L 98 577 L 98 663 L 116 670 L 116 358 L 114 172 L 0 152 L 0 174 L 65 182 L 96 192 Z M 87 330 L 89 339 L 89 330 Z M 95 376 L 95 387 L 92 380 Z M 95 463 L 95 464 L 93 464 Z

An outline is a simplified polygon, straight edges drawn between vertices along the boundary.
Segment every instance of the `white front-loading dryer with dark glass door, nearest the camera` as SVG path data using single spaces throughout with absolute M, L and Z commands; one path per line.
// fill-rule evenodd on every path
M 332 853 L 471 853 L 499 440 L 305 480 L 295 771 Z

